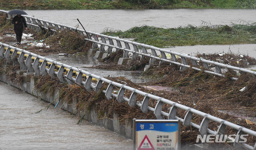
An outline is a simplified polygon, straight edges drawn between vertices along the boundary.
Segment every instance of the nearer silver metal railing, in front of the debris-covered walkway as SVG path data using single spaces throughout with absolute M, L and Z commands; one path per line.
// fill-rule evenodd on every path
M 129 106 L 131 107 L 137 105 L 144 113 L 147 113 L 148 110 L 152 111 L 154 112 L 154 115 L 157 119 L 164 119 L 164 116 L 166 116 L 168 119 L 179 119 L 184 126 L 192 126 L 194 128 L 197 128 L 202 136 L 206 134 L 225 135 L 226 127 L 230 127 L 237 130 L 237 136 L 234 139 L 234 146 L 243 146 L 250 150 L 256 150 L 256 144 L 254 145 L 254 147 L 246 143 L 241 144 L 241 139 L 239 138 L 239 135 L 241 134 L 250 134 L 252 136 L 256 136 L 256 131 L 239 126 L 232 122 L 228 122 L 226 120 L 222 120 L 221 118 L 206 114 L 194 108 L 190 108 L 188 106 L 184 106 L 166 98 L 143 92 L 130 86 L 126 86 L 125 84 L 120 84 L 118 82 L 108 80 L 95 74 L 91 74 L 90 72 L 87 72 L 85 70 L 80 70 L 67 64 L 62 64 L 60 62 L 56 62 L 43 56 L 1 42 L 0 57 L 2 59 L 6 59 L 7 62 L 12 61 L 14 64 L 20 64 L 20 70 L 26 70 L 26 72 L 31 72 L 35 76 L 40 76 L 41 74 L 50 74 L 50 76 L 58 77 L 60 82 L 68 82 L 69 84 L 73 84 L 75 82 L 77 84 L 81 84 L 89 92 L 91 92 L 92 90 L 94 90 L 95 92 L 99 92 L 102 88 L 102 84 L 105 82 L 106 84 L 108 84 L 108 87 L 102 92 L 105 94 L 106 98 L 110 99 L 115 97 L 118 102 L 128 102 Z M 48 64 L 50 64 L 50 66 L 48 66 Z M 56 69 L 56 66 L 58 66 L 58 69 Z M 65 69 L 68 69 L 68 72 L 66 74 L 64 73 Z M 77 72 L 75 76 L 73 75 L 74 71 Z M 83 75 L 86 75 L 85 82 L 82 80 Z M 92 82 L 93 78 L 97 80 L 96 84 Z M 114 94 L 114 86 L 116 88 L 119 88 L 118 94 Z M 131 92 L 129 98 L 124 96 L 127 91 Z M 136 101 L 137 95 L 144 97 L 143 100 Z M 157 101 L 154 108 L 148 105 L 150 99 Z M 162 110 L 163 104 L 169 104 L 171 106 L 169 112 L 164 112 Z M 186 111 L 186 115 L 184 118 L 176 116 L 177 109 L 182 109 Z M 192 115 L 198 115 L 203 117 L 201 123 L 195 124 L 194 122 L 192 122 Z M 217 122 L 219 124 L 217 131 L 213 131 L 208 128 L 208 123 L 210 121 Z

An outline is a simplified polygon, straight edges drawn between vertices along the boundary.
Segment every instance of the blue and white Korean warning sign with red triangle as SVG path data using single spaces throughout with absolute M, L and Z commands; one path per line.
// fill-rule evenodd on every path
M 134 119 L 133 150 L 180 150 L 180 121 Z

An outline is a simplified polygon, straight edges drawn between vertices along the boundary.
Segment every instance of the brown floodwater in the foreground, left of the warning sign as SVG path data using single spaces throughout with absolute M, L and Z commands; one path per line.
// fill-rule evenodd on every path
M 0 82 L 0 150 L 131 150 L 132 140 Z

